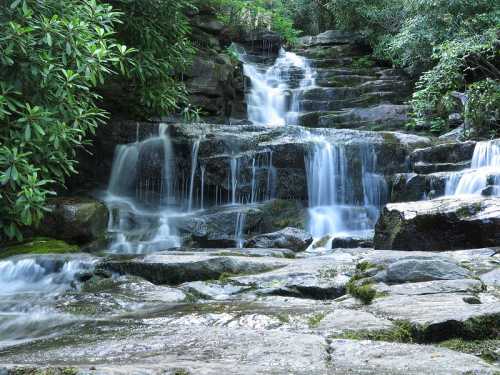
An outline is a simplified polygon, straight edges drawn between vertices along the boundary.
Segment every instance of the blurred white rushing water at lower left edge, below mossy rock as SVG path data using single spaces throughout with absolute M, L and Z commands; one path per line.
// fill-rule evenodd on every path
M 75 288 L 93 261 L 51 257 L 0 261 L 0 348 L 57 334 L 76 318 L 55 308 L 57 297 Z

